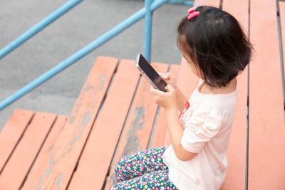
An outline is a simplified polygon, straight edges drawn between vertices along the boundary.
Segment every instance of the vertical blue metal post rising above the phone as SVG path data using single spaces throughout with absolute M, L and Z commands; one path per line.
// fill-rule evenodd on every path
M 145 59 L 150 62 L 151 53 L 151 40 L 152 40 L 152 11 L 150 5 L 152 0 L 145 0 L 145 28 L 144 28 L 144 40 L 143 40 L 143 55 Z

